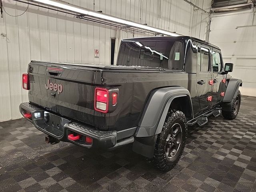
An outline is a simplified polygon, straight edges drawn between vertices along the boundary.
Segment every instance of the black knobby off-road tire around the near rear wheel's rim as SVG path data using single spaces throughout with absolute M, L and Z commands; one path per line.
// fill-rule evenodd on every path
M 180 124 L 182 136 L 176 154 L 170 159 L 166 157 L 166 140 L 175 124 Z M 168 112 L 168 115 L 166 116 L 166 120 L 164 122 L 164 126 L 162 128 L 162 132 L 157 137 L 156 147 L 154 151 L 154 164 L 159 170 L 171 170 L 179 161 L 186 144 L 187 134 L 188 125 L 184 113 L 176 110 L 171 110 L 170 112 Z

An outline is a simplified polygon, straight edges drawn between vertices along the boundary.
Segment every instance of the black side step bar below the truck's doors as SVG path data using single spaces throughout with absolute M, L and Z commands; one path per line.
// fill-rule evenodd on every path
M 214 117 L 218 117 L 221 114 L 221 108 L 214 108 L 213 110 L 210 110 L 199 117 L 192 119 L 188 121 L 188 126 L 193 126 L 194 124 L 198 124 L 199 126 L 203 126 L 208 122 L 208 117 L 213 115 Z

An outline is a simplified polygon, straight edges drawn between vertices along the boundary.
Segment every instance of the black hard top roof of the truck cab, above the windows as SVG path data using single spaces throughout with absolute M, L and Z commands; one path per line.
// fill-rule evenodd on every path
M 215 46 L 213 44 L 210 44 L 204 40 L 200 40 L 198 38 L 195 37 L 191 37 L 191 36 L 152 36 L 152 37 L 136 37 L 136 38 L 128 38 L 128 39 L 122 39 L 123 42 L 126 41 L 136 41 L 136 42 L 143 42 L 143 41 L 169 41 L 169 40 L 180 40 L 180 41 L 185 41 L 185 40 L 195 40 L 197 42 L 206 44 L 208 46 L 212 46 L 213 48 L 216 48 L 218 50 L 220 50 L 220 48 L 218 46 Z

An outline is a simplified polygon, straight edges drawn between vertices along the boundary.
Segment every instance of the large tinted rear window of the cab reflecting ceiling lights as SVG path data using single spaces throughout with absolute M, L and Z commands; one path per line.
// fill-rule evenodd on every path
M 183 69 L 183 44 L 180 41 L 124 42 L 118 65 Z

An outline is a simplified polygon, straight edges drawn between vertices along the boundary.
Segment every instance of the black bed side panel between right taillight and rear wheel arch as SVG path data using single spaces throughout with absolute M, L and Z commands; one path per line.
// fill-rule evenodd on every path
M 114 112 L 108 114 L 110 130 L 119 131 L 138 126 L 144 106 L 153 90 L 168 86 L 188 88 L 188 74 L 170 71 L 103 72 L 102 84 L 119 89 L 118 106 Z M 96 116 L 99 115 L 97 113 L 95 112 Z M 99 116 L 97 118 L 100 120 Z

